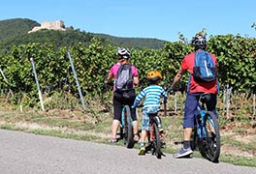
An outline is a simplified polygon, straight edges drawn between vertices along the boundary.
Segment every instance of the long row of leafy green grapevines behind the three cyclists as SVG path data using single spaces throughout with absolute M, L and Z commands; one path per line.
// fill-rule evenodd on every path
M 256 84 L 256 40 L 240 36 L 212 36 L 208 41 L 208 51 L 218 58 L 220 86 L 230 84 L 242 91 L 251 89 L 255 93 Z M 130 47 L 134 64 L 140 73 L 141 81 L 151 70 L 158 70 L 164 75 L 164 83 L 171 83 L 185 54 L 193 51 L 191 44 L 165 43 L 163 48 Z M 71 46 L 56 47 L 53 43 L 27 43 L 15 45 L 9 54 L 1 55 L 0 68 L 6 76 L 0 76 L 0 88 L 4 93 L 14 91 L 14 103 L 24 100 L 26 94 L 29 103 L 38 99 L 35 77 L 29 58 L 35 60 L 38 79 L 43 92 L 48 96 L 54 91 L 66 90 L 78 95 L 76 81 L 71 71 L 67 52 L 75 63 L 82 94 L 101 94 L 102 84 L 110 68 L 116 63 L 116 46 L 105 45 L 98 38 L 92 38 L 88 45 L 74 43 Z M 188 73 L 182 78 L 186 83 Z M 28 100 L 29 99 L 29 100 Z M 24 102 L 24 101 L 22 101 Z

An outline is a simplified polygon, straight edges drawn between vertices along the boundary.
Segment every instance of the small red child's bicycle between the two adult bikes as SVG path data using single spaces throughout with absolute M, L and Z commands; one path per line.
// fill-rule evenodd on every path
M 142 107 L 142 105 L 138 107 Z M 148 145 L 145 147 L 145 152 L 150 152 L 150 154 L 155 155 L 157 159 L 161 159 L 162 156 L 165 156 L 162 152 L 163 142 L 161 141 L 161 134 L 163 132 L 159 131 L 161 119 L 158 113 L 162 111 L 164 111 L 166 115 L 166 104 L 164 104 L 164 109 L 160 109 L 157 113 L 149 114 L 149 131 L 146 131 Z

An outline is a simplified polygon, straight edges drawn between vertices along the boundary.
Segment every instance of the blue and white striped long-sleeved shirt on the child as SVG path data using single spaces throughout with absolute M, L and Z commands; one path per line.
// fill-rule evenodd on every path
M 167 93 L 159 85 L 149 85 L 136 97 L 134 106 L 138 106 L 144 99 L 145 107 L 160 107 L 160 99 L 164 98 L 164 103 L 167 102 Z

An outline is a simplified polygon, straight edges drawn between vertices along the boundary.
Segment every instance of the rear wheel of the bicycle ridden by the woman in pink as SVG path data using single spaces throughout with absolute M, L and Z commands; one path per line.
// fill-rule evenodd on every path
M 124 131 L 125 131 L 125 145 L 127 148 L 131 149 L 134 147 L 134 140 L 133 140 L 133 121 L 131 117 L 131 109 L 129 105 L 124 106 L 125 111 L 125 124 L 124 124 Z

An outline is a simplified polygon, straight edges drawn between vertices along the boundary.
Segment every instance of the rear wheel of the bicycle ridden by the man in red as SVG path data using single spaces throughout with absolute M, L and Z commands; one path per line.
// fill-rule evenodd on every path
M 218 121 L 213 112 L 208 111 L 206 113 L 205 123 L 206 139 L 203 143 L 204 151 L 202 155 L 212 162 L 218 162 L 220 155 L 220 133 Z

